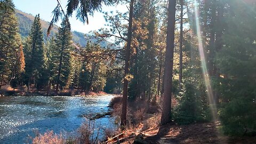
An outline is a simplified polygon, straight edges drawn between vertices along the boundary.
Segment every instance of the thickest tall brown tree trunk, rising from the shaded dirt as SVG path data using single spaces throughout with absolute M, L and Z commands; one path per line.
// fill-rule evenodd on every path
M 164 98 L 163 98 L 163 113 L 161 117 L 161 125 L 171 122 L 175 6 L 176 6 L 176 0 L 169 0 L 165 69 L 164 69 Z

